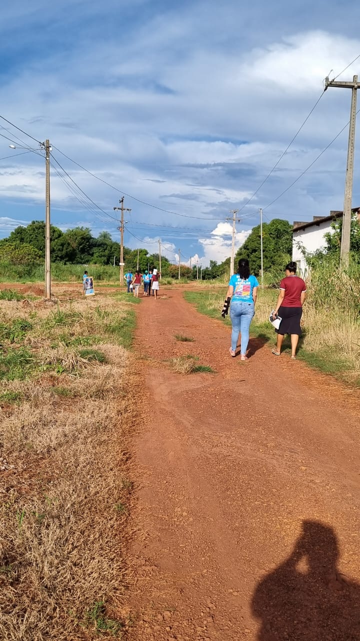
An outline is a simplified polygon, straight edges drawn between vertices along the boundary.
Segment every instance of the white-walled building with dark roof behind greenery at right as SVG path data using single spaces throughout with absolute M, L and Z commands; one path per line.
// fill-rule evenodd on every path
M 352 212 L 357 213 L 360 220 L 360 207 L 355 207 Z M 303 249 L 306 253 L 313 254 L 318 249 L 325 247 L 325 233 L 333 233 L 331 223 L 343 217 L 343 212 L 330 212 L 329 216 L 313 216 L 311 222 L 293 223 L 293 260 L 297 263 L 299 274 L 306 274 L 307 264 Z

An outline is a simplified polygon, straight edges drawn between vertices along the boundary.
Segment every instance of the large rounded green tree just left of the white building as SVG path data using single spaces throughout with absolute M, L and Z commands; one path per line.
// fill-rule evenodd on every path
M 260 225 L 254 227 L 250 236 L 238 249 L 235 256 L 235 267 L 240 258 L 247 258 L 252 273 L 261 271 Z M 263 266 L 264 271 L 283 268 L 291 260 L 293 228 L 290 222 L 275 218 L 263 224 Z

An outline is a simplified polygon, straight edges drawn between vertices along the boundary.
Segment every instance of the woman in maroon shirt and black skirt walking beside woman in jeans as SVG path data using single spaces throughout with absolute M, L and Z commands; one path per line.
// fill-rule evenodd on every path
M 281 317 L 281 323 L 277 331 L 276 347 L 272 349 L 275 356 L 280 356 L 281 345 L 285 334 L 291 337 L 291 358 L 296 358 L 296 349 L 301 336 L 300 320 L 302 317 L 302 305 L 306 297 L 306 284 L 296 275 L 297 265 L 295 262 L 288 263 L 285 267 L 286 278 L 280 283 L 279 298 L 273 318 L 277 313 Z

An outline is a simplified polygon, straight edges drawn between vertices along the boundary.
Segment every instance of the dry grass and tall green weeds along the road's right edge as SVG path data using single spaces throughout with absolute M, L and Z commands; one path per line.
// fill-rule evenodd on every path
M 266 281 L 270 280 L 267 274 Z M 184 296 L 199 312 L 220 319 L 225 294 L 224 287 L 209 292 L 187 291 Z M 276 301 L 276 288 L 259 289 L 256 315 L 250 326 L 250 334 L 263 338 L 270 346 L 275 342 L 275 332 L 268 317 Z M 231 325 L 229 317 L 225 323 Z M 342 381 L 360 385 L 360 269 L 356 262 L 350 264 L 347 274 L 331 257 L 313 266 L 307 278 L 302 325 L 299 358 Z M 288 338 L 284 353 L 290 354 Z

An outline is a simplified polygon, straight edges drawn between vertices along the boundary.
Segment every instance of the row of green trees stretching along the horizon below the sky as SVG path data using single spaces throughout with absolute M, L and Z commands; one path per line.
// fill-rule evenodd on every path
M 51 262 L 72 265 L 119 265 L 120 244 L 115 242 L 108 231 L 102 231 L 94 237 L 86 227 L 76 227 L 62 231 L 56 226 L 50 228 Z M 292 245 L 292 226 L 288 221 L 274 219 L 263 224 L 263 263 L 264 270 L 283 267 L 289 260 Z M 11 262 L 18 265 L 41 263 L 45 258 L 45 223 L 33 221 L 28 226 L 19 226 L 8 238 L 0 241 L 0 262 Z M 260 226 L 252 229 L 249 237 L 235 256 L 235 265 L 239 258 L 248 258 L 252 272 L 259 274 L 261 269 Z M 159 254 L 150 254 L 146 249 L 124 247 L 125 269 L 139 269 L 143 272 L 149 267 L 159 267 Z M 197 265 L 192 268 L 181 265 L 182 277 L 197 278 Z M 222 263 L 211 260 L 208 267 L 202 269 L 202 278 L 218 278 L 229 272 L 230 258 Z M 178 265 L 172 265 L 166 256 L 161 256 L 161 271 L 166 276 L 177 277 Z M 199 265 L 200 278 L 200 265 Z

